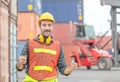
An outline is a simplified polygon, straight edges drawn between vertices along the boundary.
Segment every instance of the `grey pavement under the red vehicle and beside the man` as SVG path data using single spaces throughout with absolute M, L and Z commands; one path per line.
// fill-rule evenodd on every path
M 18 82 L 22 82 L 25 71 L 18 72 Z M 87 70 L 86 67 L 79 67 L 69 76 L 59 74 L 59 82 L 120 82 L 120 67 L 113 67 L 111 70 L 98 70 L 92 67 Z

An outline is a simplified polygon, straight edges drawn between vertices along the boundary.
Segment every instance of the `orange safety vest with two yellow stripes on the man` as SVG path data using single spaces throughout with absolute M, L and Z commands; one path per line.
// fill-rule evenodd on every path
M 40 44 L 35 40 L 29 40 L 29 68 L 28 74 L 35 80 L 47 80 L 56 78 L 60 44 L 53 41 L 52 44 Z

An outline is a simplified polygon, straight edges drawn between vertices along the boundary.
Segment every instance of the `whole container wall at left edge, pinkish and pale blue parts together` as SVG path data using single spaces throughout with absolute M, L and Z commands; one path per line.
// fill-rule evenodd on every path
M 16 19 L 17 0 L 0 1 L 0 82 L 17 82 Z

